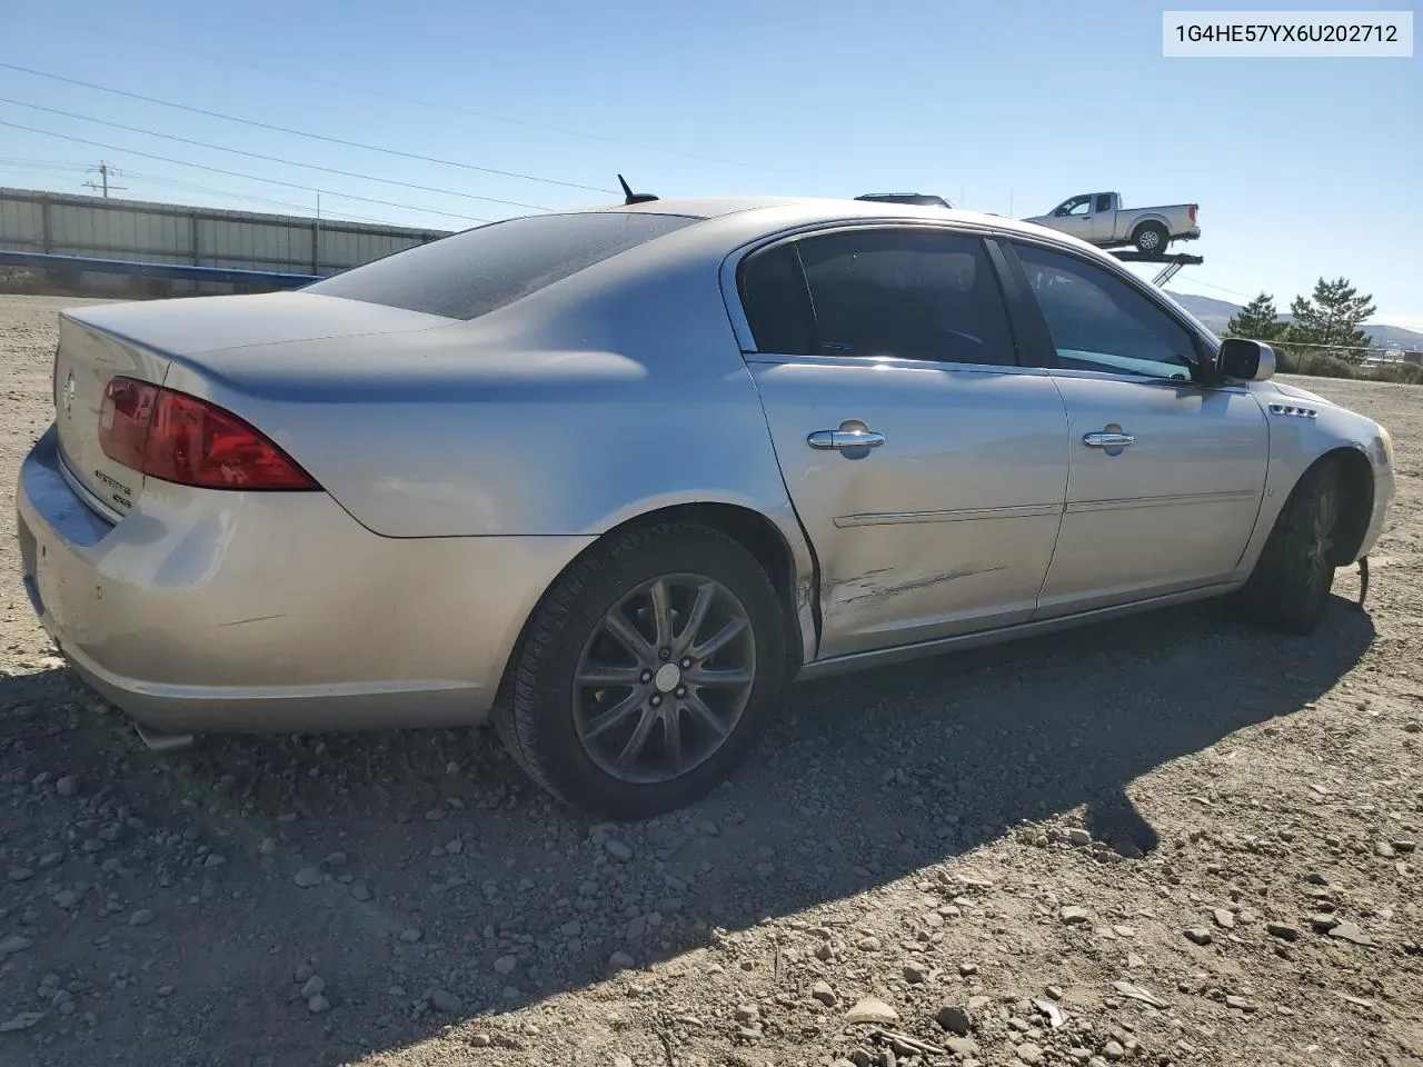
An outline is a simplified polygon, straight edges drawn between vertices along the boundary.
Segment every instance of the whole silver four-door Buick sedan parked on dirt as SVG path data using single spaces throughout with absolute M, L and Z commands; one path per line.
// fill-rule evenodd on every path
M 998 216 L 511 219 L 64 313 L 26 585 L 154 745 L 492 717 L 564 801 L 646 817 L 797 677 L 1207 596 L 1311 630 L 1392 444 L 1272 371 Z

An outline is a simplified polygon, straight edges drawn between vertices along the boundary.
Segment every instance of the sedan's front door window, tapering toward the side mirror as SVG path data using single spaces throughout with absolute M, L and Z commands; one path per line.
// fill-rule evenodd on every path
M 1016 248 L 1060 367 L 1191 377 L 1191 334 L 1147 296 L 1076 256 L 1032 245 Z

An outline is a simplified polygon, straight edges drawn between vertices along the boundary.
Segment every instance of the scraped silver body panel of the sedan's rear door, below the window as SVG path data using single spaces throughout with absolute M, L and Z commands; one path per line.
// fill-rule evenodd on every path
M 753 366 L 821 570 L 821 656 L 1026 620 L 1067 482 L 1033 373 Z

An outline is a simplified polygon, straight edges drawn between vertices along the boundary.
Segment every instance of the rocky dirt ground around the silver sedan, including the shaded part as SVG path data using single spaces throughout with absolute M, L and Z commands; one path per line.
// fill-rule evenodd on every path
M 1423 1063 L 1423 390 L 1303 383 L 1396 440 L 1368 613 L 1350 570 L 1309 639 L 1204 605 L 807 684 L 615 828 L 485 731 L 148 753 L 20 585 L 73 303 L 0 297 L 0 1064 Z

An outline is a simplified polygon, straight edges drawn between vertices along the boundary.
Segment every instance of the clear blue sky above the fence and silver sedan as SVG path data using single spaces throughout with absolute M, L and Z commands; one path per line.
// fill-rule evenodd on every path
M 1329 10 L 1348 7 L 1369 6 Z M 1205 265 L 1183 270 L 1174 289 L 1237 303 L 1265 289 L 1284 310 L 1319 276 L 1343 275 L 1373 294 L 1376 322 L 1423 330 L 1423 58 L 1167 60 L 1161 10 L 1109 0 L 50 0 L 6 7 L 0 63 L 609 192 L 620 171 L 665 196 L 916 191 L 1016 216 L 1097 189 L 1128 205 L 1194 201 L 1205 236 L 1177 248 Z M 545 208 L 609 199 L 4 68 L 0 97 L 283 161 L 0 102 L 0 121 L 112 147 L 0 127 L 4 185 L 83 191 L 92 179 L 83 168 L 105 159 L 122 172 L 122 196 L 316 208 L 307 189 L 135 155 L 148 152 L 326 189 L 327 215 L 438 229 L 528 211 L 471 196 Z

